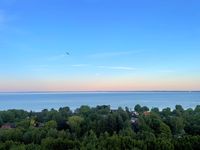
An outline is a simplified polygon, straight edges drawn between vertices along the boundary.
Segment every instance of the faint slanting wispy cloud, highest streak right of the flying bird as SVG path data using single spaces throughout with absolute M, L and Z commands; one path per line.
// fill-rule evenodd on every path
M 90 58 L 109 58 L 109 57 L 119 57 L 125 55 L 138 54 L 143 52 L 142 50 L 135 51 L 116 51 L 116 52 L 102 52 L 89 55 Z

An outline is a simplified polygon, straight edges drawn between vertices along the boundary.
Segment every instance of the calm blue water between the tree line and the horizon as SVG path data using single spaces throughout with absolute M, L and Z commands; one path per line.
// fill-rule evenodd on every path
M 81 105 L 110 105 L 111 108 L 140 104 L 150 108 L 195 108 L 200 104 L 200 92 L 57 92 L 57 93 L 0 93 L 0 110 L 25 109 L 40 111 L 69 106 L 72 110 Z

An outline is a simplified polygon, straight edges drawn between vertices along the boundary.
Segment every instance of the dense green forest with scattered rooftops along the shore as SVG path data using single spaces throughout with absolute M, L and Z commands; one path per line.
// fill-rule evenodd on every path
M 199 150 L 200 105 L 0 111 L 0 150 Z

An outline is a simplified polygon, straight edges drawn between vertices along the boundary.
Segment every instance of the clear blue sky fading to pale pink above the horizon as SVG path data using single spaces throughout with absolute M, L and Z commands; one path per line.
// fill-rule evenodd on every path
M 199 18 L 199 0 L 0 0 L 0 92 L 200 90 Z

